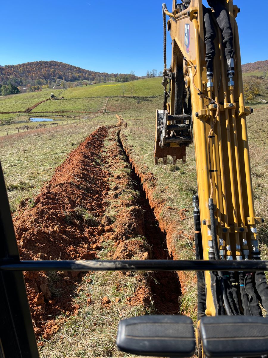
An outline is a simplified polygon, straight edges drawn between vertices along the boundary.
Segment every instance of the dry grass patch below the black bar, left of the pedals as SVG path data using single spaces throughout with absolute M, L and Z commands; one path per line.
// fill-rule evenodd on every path
M 89 278 L 91 283 L 87 282 Z M 133 307 L 125 303 L 137 285 L 136 276 L 126 277 L 120 272 L 99 271 L 85 276 L 75 299 L 80 306 L 78 315 L 70 316 L 53 339 L 45 343 L 40 357 L 129 356 L 116 350 L 115 340 L 120 319 L 145 313 L 143 305 Z M 109 308 L 103 305 L 104 297 L 111 301 Z M 115 299 L 120 301 L 116 302 Z

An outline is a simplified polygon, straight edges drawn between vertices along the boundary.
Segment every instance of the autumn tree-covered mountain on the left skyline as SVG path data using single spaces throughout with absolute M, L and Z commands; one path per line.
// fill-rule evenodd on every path
M 55 81 L 127 82 L 136 78 L 133 72 L 95 72 L 58 61 L 27 62 L 0 67 L 0 83 L 14 86 L 51 84 Z

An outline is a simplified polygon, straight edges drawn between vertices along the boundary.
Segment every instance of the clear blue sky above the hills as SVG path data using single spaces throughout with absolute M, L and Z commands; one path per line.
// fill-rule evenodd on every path
M 234 1 L 242 63 L 268 59 L 268 1 L 260 2 Z M 172 0 L 166 3 L 171 9 Z M 161 0 L 3 0 L 0 64 L 55 60 L 108 73 L 162 71 L 161 9 Z

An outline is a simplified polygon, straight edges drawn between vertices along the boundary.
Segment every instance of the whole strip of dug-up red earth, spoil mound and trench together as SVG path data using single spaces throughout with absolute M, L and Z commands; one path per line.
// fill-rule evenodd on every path
M 124 127 L 119 117 L 118 126 L 97 129 L 56 168 L 36 198 L 21 202 L 14 227 L 22 260 L 97 259 L 105 241 L 114 242 L 113 259 L 172 260 L 168 237 L 155 216 L 161 207 L 154 205 L 152 210 L 134 169 L 124 174 L 129 166 L 120 140 Z M 155 180 L 151 173 L 152 190 Z M 120 196 L 128 188 L 139 192 L 137 198 Z M 116 213 L 114 222 L 106 214 L 109 205 Z M 37 337 L 48 339 L 58 331 L 55 316 L 63 313 L 64 321 L 78 314 L 73 297 L 84 275 L 24 273 Z M 150 306 L 153 299 L 156 313 L 177 314 L 180 295 L 176 273 L 150 272 L 141 275 L 140 285 L 123 304 Z

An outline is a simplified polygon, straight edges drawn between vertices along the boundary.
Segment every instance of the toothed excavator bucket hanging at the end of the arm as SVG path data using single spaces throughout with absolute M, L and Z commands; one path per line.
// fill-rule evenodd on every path
M 167 164 L 167 156 L 172 157 L 172 163 L 177 159 L 186 163 L 186 147 L 192 143 L 192 118 L 189 115 L 169 115 L 167 110 L 157 110 L 155 120 L 154 163 L 163 158 Z

